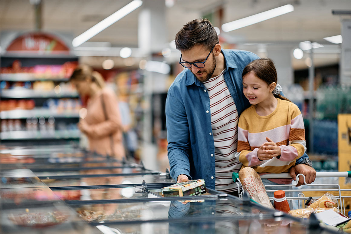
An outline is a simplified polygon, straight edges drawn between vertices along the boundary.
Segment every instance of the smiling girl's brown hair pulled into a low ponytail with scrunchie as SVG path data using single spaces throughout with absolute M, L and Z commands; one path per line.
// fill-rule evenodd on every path
M 266 82 L 268 85 L 272 84 L 273 82 L 278 84 L 276 67 L 274 66 L 273 61 L 269 58 L 256 59 L 247 64 L 243 70 L 243 73 L 241 74 L 241 77 L 244 78 L 244 76 L 249 72 L 252 72 L 255 76 Z M 274 94 L 274 97 L 291 102 L 289 99 L 280 94 Z

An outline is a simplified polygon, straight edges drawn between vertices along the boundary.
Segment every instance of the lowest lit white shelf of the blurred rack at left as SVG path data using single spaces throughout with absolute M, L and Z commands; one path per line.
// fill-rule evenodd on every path
M 70 139 L 79 138 L 79 130 L 56 130 L 54 132 L 41 131 L 9 131 L 0 132 L 1 140 L 35 140 L 35 139 Z

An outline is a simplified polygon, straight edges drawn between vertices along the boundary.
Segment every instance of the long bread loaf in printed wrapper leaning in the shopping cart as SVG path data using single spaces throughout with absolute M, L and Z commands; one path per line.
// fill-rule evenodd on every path
M 239 180 L 243 185 L 243 189 L 249 192 L 252 200 L 258 202 L 264 207 L 274 209 L 261 177 L 254 169 L 251 167 L 241 169 L 239 171 Z

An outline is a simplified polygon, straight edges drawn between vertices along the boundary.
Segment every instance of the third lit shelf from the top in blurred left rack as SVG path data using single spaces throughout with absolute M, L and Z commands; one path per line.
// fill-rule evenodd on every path
M 0 119 L 26 119 L 31 117 L 44 117 L 48 118 L 50 116 L 54 118 L 78 118 L 78 112 L 73 111 L 57 111 L 45 109 L 45 108 L 34 108 L 32 110 L 9 110 L 9 111 L 1 111 Z

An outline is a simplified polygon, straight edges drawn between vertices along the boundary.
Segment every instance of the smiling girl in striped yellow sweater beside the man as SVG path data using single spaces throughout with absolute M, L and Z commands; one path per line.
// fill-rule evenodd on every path
M 252 105 L 239 118 L 236 157 L 243 167 L 251 167 L 259 175 L 287 173 L 306 151 L 301 112 L 280 95 L 282 88 L 271 59 L 252 61 L 242 77 L 244 95 Z M 291 184 L 292 179 L 262 181 L 265 185 Z

